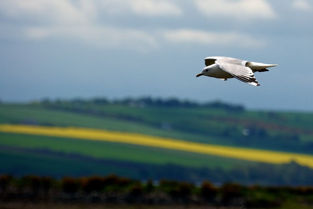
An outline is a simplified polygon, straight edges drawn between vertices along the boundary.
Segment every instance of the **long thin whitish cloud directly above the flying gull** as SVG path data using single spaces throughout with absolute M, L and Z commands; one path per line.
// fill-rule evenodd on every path
M 163 33 L 165 40 L 174 43 L 197 43 L 216 46 L 261 47 L 265 40 L 255 39 L 237 32 L 207 32 L 203 30 L 177 29 Z

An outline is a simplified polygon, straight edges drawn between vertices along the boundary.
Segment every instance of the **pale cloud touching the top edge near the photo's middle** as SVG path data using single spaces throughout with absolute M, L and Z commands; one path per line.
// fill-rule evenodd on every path
M 181 8 L 165 0 L 105 0 L 103 8 L 111 14 L 132 12 L 141 16 L 180 16 Z

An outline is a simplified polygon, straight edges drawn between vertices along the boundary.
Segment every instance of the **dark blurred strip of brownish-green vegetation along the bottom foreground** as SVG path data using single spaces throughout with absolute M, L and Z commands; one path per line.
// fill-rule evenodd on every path
M 261 187 L 208 181 L 151 180 L 140 182 L 115 175 L 83 178 L 0 176 L 0 202 L 111 203 L 147 205 L 278 207 L 285 202 L 313 204 L 313 187 Z

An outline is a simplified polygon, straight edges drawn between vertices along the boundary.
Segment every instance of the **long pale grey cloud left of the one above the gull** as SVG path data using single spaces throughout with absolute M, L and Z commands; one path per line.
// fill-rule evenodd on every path
M 24 33 L 27 38 L 33 40 L 74 39 L 100 48 L 131 47 L 139 51 L 149 51 L 157 47 L 154 36 L 145 31 L 102 25 L 27 27 Z

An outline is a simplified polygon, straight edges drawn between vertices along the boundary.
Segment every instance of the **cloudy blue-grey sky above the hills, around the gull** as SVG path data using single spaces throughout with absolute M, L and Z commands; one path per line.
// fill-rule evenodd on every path
M 152 96 L 313 111 L 309 0 L 2 0 L 0 100 Z M 261 86 L 207 56 L 278 64 Z

